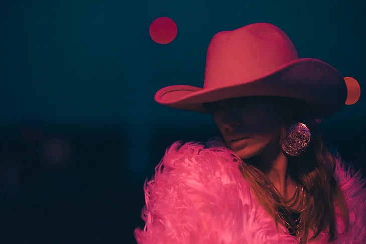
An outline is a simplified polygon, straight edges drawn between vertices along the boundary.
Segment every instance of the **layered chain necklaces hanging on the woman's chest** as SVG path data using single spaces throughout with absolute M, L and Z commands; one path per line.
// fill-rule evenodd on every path
M 284 199 L 282 197 L 282 206 L 278 207 L 278 211 L 276 212 L 277 216 L 280 218 L 281 223 L 289 230 L 291 234 L 294 234 L 297 238 L 297 241 L 300 243 L 301 241 L 301 232 L 302 232 L 302 220 L 304 211 L 306 210 L 306 194 L 304 191 L 304 186 L 300 187 L 296 186 L 295 194 L 290 199 Z M 289 211 L 289 208 L 294 206 L 297 202 L 298 196 L 300 196 L 299 208 L 300 211 L 292 212 Z M 292 213 L 298 213 L 298 217 L 293 219 Z

